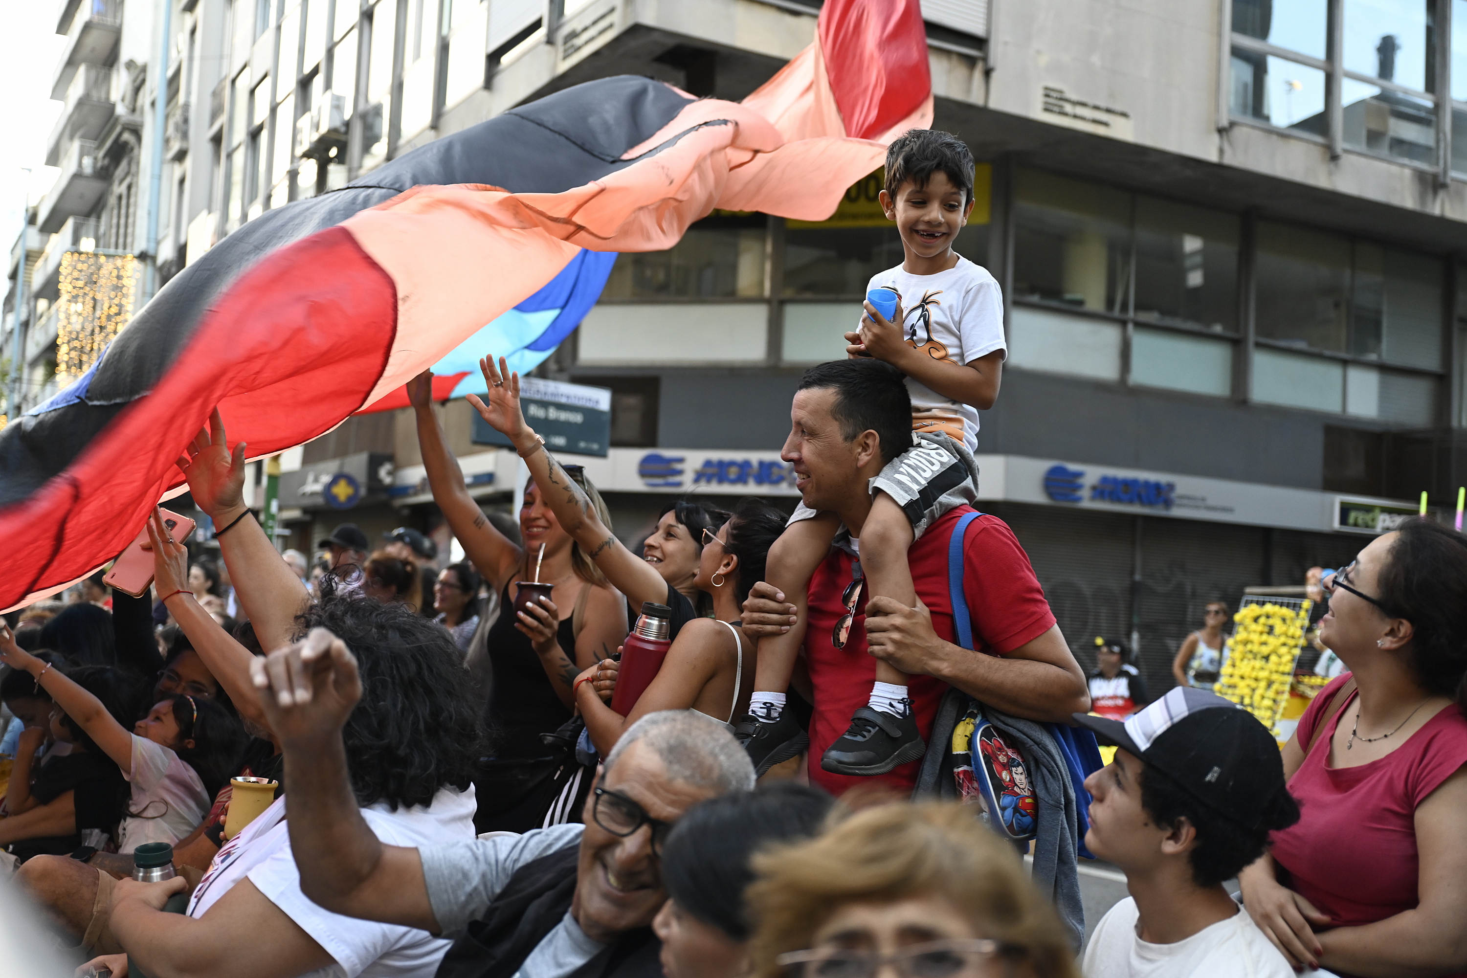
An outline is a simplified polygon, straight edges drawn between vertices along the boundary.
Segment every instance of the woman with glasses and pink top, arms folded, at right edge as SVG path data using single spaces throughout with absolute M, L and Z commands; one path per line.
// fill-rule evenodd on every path
M 1320 584 L 1350 672 L 1284 746 L 1303 815 L 1243 905 L 1297 969 L 1464 975 L 1467 537 L 1411 519 Z

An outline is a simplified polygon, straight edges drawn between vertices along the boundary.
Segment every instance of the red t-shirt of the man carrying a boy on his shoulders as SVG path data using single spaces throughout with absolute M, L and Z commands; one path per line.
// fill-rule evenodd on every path
M 943 515 L 921 540 L 907 551 L 917 597 L 932 611 L 937 636 L 956 644 L 952 629 L 952 600 L 948 592 L 948 543 L 952 528 L 968 506 Z M 964 544 L 962 592 L 973 622 L 973 642 L 978 651 L 1003 655 L 1030 642 L 1055 625 L 1055 616 L 1039 587 L 1028 554 L 1018 545 L 1014 531 L 998 516 L 978 516 L 968 525 Z M 820 755 L 851 726 L 851 714 L 864 707 L 876 682 L 876 660 L 866 654 L 866 598 L 857 606 L 855 625 L 845 648 L 830 644 L 830 630 L 845 613 L 841 594 L 851 582 L 852 559 L 832 550 L 810 579 L 810 625 L 805 629 L 805 657 L 814 686 L 814 717 L 810 721 L 810 780 L 833 795 L 857 786 L 886 784 L 910 793 L 917 783 L 921 761 L 902 764 L 890 774 L 851 777 L 820 770 Z M 867 588 L 868 591 L 870 588 Z M 932 676 L 912 676 L 908 695 L 917 714 L 923 739 L 932 733 L 933 714 L 945 685 Z

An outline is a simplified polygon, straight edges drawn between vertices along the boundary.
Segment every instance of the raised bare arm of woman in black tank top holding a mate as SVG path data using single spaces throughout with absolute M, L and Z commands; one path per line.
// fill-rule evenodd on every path
M 494 529 L 474 497 L 464 485 L 464 471 L 443 441 L 443 428 L 430 400 L 433 374 L 424 371 L 408 381 L 408 399 L 418 416 L 418 444 L 422 468 L 428 472 L 433 501 L 443 510 L 453 535 L 464 544 L 464 553 L 478 572 L 502 591 L 524 559 L 524 551 L 512 540 Z

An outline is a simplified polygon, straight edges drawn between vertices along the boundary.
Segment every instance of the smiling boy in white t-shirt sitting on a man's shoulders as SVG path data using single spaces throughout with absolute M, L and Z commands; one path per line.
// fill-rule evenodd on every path
M 999 284 L 952 245 L 973 210 L 973 154 L 956 136 L 915 129 L 886 154 L 882 208 L 896 221 L 904 261 L 871 277 L 867 290 L 896 295 L 890 320 L 870 302 L 854 333 L 851 356 L 874 356 L 907 374 L 912 400 L 912 447 L 873 479 L 871 512 L 860 528 L 857 581 L 845 595 L 852 614 L 863 597 L 885 595 L 915 607 L 907 550 L 948 510 L 977 497 L 978 409 L 993 406 L 1006 345 Z M 844 433 L 851 437 L 854 433 Z M 758 672 L 750 716 L 739 724 L 756 770 L 798 755 L 808 745 L 800 723 L 785 711 L 795 657 L 804 642 L 805 589 L 841 529 L 832 513 L 800 506 L 769 553 L 769 582 L 789 595 L 800 622 L 779 638 L 758 644 Z M 861 594 L 864 581 L 870 589 Z M 820 638 L 820 636 L 817 636 Z M 832 636 L 842 648 L 845 633 Z M 839 774 L 885 774 L 924 752 L 907 676 L 877 661 L 866 707 L 855 711 L 845 736 L 835 740 L 822 767 Z

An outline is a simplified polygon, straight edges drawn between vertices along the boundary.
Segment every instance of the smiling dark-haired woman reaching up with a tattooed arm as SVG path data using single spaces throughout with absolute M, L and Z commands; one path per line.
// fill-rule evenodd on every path
M 469 394 L 468 402 L 489 427 L 509 438 L 530 468 L 530 478 L 537 485 L 555 488 L 546 494 L 546 506 L 555 513 L 560 528 L 591 554 L 606 579 L 626 595 L 632 609 L 640 609 L 645 601 L 672 609 L 670 636 L 676 638 L 684 625 L 698 617 L 698 595 L 713 594 L 707 578 L 701 578 L 701 584 L 698 578 L 703 548 L 709 540 L 704 529 L 717 529 L 728 513 L 698 503 L 675 503 L 663 510 L 657 529 L 643 544 L 643 556 L 638 557 L 612 534 L 597 509 L 587 504 L 575 479 L 525 422 L 519 408 L 519 374 L 509 371 L 503 356 L 499 358 L 497 368 L 491 356 L 483 358 L 480 369 L 484 371 L 489 393 L 483 399 Z M 414 383 L 420 381 L 427 390 L 431 375 L 424 374 Z M 736 617 L 734 614 L 725 620 Z

